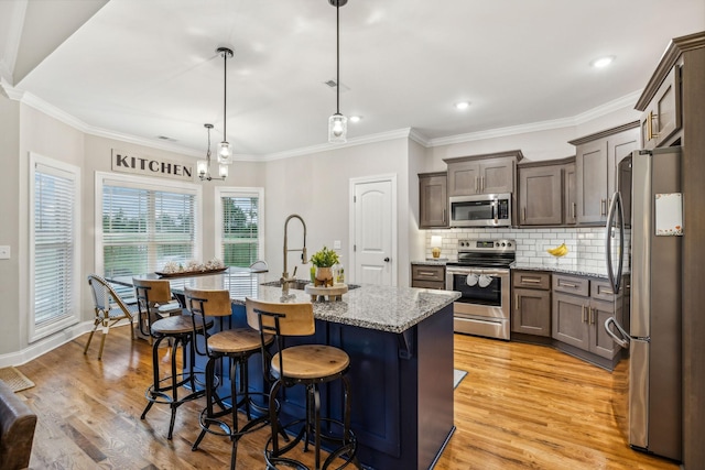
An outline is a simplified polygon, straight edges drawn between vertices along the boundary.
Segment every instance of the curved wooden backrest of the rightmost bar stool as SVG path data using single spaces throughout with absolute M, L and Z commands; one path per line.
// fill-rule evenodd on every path
M 246 297 L 247 323 L 258 331 L 276 336 L 310 336 L 316 332 L 313 304 L 281 304 Z

